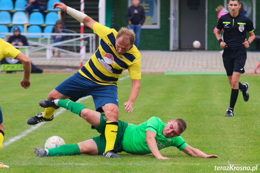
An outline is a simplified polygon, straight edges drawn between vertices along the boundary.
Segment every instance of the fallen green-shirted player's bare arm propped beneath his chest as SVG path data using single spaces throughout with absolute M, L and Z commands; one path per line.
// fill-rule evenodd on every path
M 156 137 L 155 132 L 146 131 L 146 142 L 147 142 L 147 145 L 148 145 L 150 151 L 153 153 L 153 155 L 157 159 L 170 159 L 170 158 L 167 158 L 167 157 L 164 157 L 161 155 L 160 151 L 158 150 L 155 137 Z

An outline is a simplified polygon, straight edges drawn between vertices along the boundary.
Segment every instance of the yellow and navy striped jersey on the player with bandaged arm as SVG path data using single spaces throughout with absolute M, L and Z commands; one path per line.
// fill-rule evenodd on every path
M 116 52 L 117 31 L 96 22 L 93 31 L 100 37 L 100 45 L 80 74 L 101 85 L 117 85 L 119 78 L 128 69 L 131 79 L 141 79 L 141 54 L 133 45 L 126 53 Z

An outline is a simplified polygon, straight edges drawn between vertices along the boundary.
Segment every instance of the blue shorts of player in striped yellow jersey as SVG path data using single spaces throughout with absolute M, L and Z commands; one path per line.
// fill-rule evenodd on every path
M 96 111 L 99 112 L 104 112 L 102 106 L 107 103 L 114 103 L 118 106 L 116 85 L 97 84 L 82 76 L 79 72 L 65 79 L 55 90 L 70 97 L 70 100 L 74 102 L 81 97 L 91 95 L 95 103 Z

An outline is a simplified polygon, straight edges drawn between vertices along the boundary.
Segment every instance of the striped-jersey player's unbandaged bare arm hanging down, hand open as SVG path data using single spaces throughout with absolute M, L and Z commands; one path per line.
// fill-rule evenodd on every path
M 141 85 L 140 79 L 132 79 L 132 90 L 130 93 L 130 97 L 127 102 L 124 103 L 125 110 L 127 113 L 131 113 L 133 111 L 133 103 L 140 91 Z

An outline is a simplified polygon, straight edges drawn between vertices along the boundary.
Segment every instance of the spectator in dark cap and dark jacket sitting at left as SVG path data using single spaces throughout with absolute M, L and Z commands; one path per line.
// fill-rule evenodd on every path
M 28 46 L 26 37 L 20 34 L 20 29 L 18 27 L 14 28 L 14 35 L 9 37 L 8 43 L 13 46 Z

